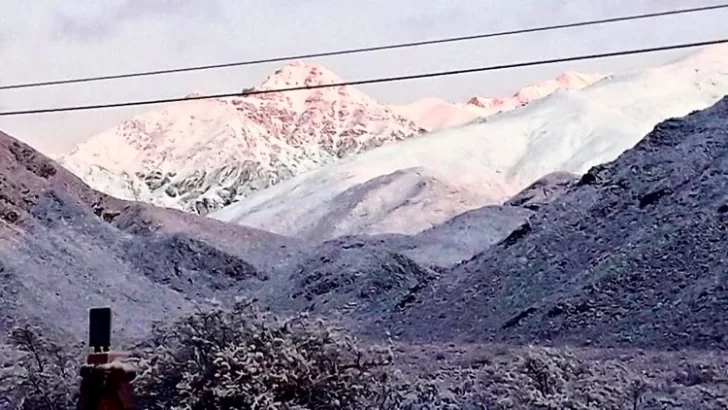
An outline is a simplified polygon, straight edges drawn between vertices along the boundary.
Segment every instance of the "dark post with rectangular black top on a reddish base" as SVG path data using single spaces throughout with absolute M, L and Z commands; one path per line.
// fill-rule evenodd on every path
M 89 352 L 81 366 L 78 410 L 133 410 L 131 381 L 136 369 L 125 361 L 128 354 L 112 352 L 111 308 L 89 310 Z

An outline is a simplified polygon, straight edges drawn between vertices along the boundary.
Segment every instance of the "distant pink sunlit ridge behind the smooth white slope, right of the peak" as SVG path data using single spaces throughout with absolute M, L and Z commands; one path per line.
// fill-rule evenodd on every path
M 521 88 L 509 97 L 473 97 L 464 104 L 423 98 L 406 105 L 394 105 L 392 109 L 428 131 L 437 131 L 522 107 L 557 90 L 578 90 L 604 77 L 603 74 L 568 71 L 555 79 Z

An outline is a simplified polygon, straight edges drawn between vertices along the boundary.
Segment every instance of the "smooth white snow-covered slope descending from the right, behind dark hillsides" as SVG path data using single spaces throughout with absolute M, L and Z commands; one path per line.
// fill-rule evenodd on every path
M 660 121 L 704 109 L 726 94 L 728 46 L 710 47 L 660 67 L 610 75 L 579 90 L 558 90 L 487 121 L 347 158 L 212 216 L 306 237 L 332 219 L 343 225 L 330 231 L 351 235 L 369 229 L 367 221 L 396 213 L 396 220 L 406 223 L 392 224 L 386 232 L 413 233 L 462 212 L 462 206 L 453 204 L 498 204 L 543 175 L 582 174 L 633 147 Z M 430 190 L 433 195 L 423 195 L 423 189 L 404 192 L 397 183 L 391 190 L 381 184 L 376 191 L 364 189 L 372 185 L 369 181 L 412 169 L 428 176 L 421 186 L 436 181 L 434 186 L 443 188 Z M 345 195 L 362 191 L 367 195 Z

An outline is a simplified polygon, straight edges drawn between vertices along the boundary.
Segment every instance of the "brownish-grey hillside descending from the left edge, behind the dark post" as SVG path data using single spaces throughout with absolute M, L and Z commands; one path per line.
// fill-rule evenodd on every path
M 30 320 L 78 339 L 98 305 L 114 309 L 116 335 L 138 337 L 207 299 L 275 283 L 297 257 L 295 241 L 223 225 L 108 197 L 0 133 L 0 338 Z

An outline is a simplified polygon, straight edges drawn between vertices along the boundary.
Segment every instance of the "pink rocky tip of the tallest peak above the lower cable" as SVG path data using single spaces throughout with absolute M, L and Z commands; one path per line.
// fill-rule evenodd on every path
M 304 87 L 344 82 L 328 68 L 315 63 L 293 61 L 286 64 L 263 81 L 258 89 Z

